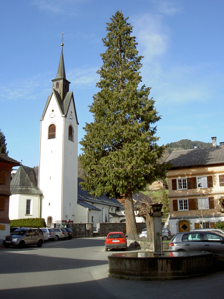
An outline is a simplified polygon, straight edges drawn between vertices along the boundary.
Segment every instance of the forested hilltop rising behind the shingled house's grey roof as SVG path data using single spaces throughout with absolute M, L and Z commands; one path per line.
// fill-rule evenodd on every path
M 190 139 L 182 139 L 176 142 L 171 142 L 167 144 L 168 147 L 165 149 L 163 153 L 163 158 L 159 162 L 163 162 L 169 154 L 171 154 L 174 150 L 182 150 L 182 149 L 194 149 L 195 147 L 201 148 L 201 147 L 211 147 L 211 142 L 202 142 L 202 141 L 191 141 Z

